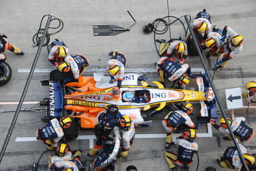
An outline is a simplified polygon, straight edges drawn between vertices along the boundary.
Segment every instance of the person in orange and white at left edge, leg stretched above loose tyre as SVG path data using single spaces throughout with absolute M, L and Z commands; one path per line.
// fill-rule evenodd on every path
M 6 56 L 3 54 L 5 50 L 8 49 L 11 52 L 14 52 L 16 55 L 24 55 L 25 53 L 17 48 L 16 46 L 10 44 L 7 40 L 7 36 L 3 33 L 0 33 L 0 62 L 5 61 Z

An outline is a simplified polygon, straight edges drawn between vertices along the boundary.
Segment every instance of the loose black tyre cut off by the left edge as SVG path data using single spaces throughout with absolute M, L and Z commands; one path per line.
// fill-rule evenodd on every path
M 8 63 L 0 63 L 0 86 L 7 84 L 12 76 L 12 69 Z

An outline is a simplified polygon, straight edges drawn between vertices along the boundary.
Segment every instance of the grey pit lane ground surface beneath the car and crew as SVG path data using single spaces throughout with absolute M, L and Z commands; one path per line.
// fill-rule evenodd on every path
M 26 54 L 18 57 L 11 52 L 5 52 L 11 65 L 13 75 L 10 82 L 0 88 L 1 102 L 18 101 L 23 90 L 28 73 L 18 72 L 18 69 L 29 69 L 36 48 L 32 48 L 31 38 L 36 33 L 40 19 L 44 14 L 53 13 L 64 22 L 64 29 L 53 35 L 51 41 L 56 37 L 66 42 L 71 54 L 85 55 L 90 61 L 90 68 L 105 68 L 109 59 L 107 55 L 110 50 L 118 49 L 128 57 L 127 68 L 154 68 L 154 63 L 158 60 L 154 48 L 153 35 L 145 35 L 141 30 L 143 25 L 152 22 L 159 17 L 167 16 L 167 1 L 3 1 L 0 14 L 1 32 L 8 35 L 8 40 L 21 48 Z M 223 28 L 229 25 L 235 31 L 244 36 L 243 51 L 236 59 L 229 61 L 227 67 L 217 72 L 214 76 L 214 83 L 217 89 L 227 87 L 240 87 L 249 80 L 255 80 L 255 12 L 256 2 L 251 1 L 169 1 L 169 12 L 172 16 L 182 16 L 183 14 L 192 17 L 200 10 L 206 8 L 212 15 L 212 24 Z M 115 9 L 115 10 L 113 10 Z M 122 33 L 115 37 L 94 37 L 92 35 L 92 25 L 119 25 L 128 27 L 132 24 L 132 19 L 126 11 L 129 10 L 137 20 L 137 25 L 132 27 L 130 32 Z M 180 23 L 175 23 L 171 27 L 172 37 L 177 38 L 181 31 Z M 157 38 L 168 39 L 169 35 L 159 35 Z M 198 57 L 187 59 L 192 67 L 201 67 Z M 216 57 L 212 57 L 213 66 Z M 40 59 L 37 64 L 38 69 L 52 68 L 47 61 L 47 50 L 42 49 Z M 85 72 L 85 75 L 91 73 Z M 38 101 L 48 96 L 48 87 L 42 87 L 40 80 L 48 78 L 48 73 L 35 73 L 31 80 L 29 91 L 25 101 Z M 154 80 L 156 74 L 150 74 Z M 219 91 L 225 103 L 224 91 Z M 244 102 L 245 103 L 245 102 Z M 224 105 L 225 106 L 225 105 Z M 24 106 L 25 107 L 25 106 Z M 15 105 L 0 105 L 0 110 L 15 109 Z M 197 108 L 198 110 L 198 108 Z M 0 113 L 1 131 L 0 141 L 3 141 L 5 131 L 10 125 L 12 112 Z M 235 110 L 236 116 L 245 116 L 248 124 L 255 128 L 255 110 L 253 108 Z M 227 111 L 227 115 L 231 113 Z M 36 162 L 40 154 L 46 147 L 42 142 L 15 142 L 16 137 L 35 136 L 35 130 L 42 127 L 44 123 L 40 120 L 44 113 L 20 112 L 16 127 L 10 139 L 10 144 L 5 152 L 0 170 L 31 170 L 33 162 Z M 161 119 L 164 114 L 152 117 L 154 127 L 141 127 L 137 129 L 137 134 L 163 134 Z M 193 116 L 195 121 L 195 116 Z M 200 132 L 205 131 L 205 125 L 201 125 Z M 213 138 L 198 138 L 200 165 L 199 170 L 207 166 L 214 166 L 217 170 L 224 170 L 217 166 L 215 159 L 218 158 L 225 147 L 233 146 L 232 142 L 225 142 L 223 134 L 213 130 Z M 92 131 L 81 130 L 79 134 L 91 135 Z M 69 143 L 72 149 L 83 149 L 82 161 L 88 166 L 93 157 L 87 157 L 89 151 L 88 140 L 78 140 Z M 139 170 L 169 170 L 163 154 L 165 138 L 137 139 L 134 146 L 129 151 L 128 157 L 119 159 L 117 170 L 125 170 L 126 166 L 133 164 Z M 255 153 L 255 138 L 246 143 L 251 147 L 251 153 Z M 46 170 L 46 157 L 40 162 L 39 170 Z M 190 167 L 195 170 L 197 157 Z

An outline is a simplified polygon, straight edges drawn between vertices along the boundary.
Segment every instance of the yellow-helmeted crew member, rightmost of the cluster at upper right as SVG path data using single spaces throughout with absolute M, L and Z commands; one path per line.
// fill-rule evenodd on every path
M 226 37 L 227 40 L 225 43 L 223 43 L 220 50 L 218 50 L 220 54 L 224 53 L 223 59 L 215 63 L 216 67 L 214 67 L 214 71 L 221 70 L 223 67 L 225 67 L 227 61 L 233 59 L 238 55 L 239 52 L 242 51 L 242 44 L 244 41 L 244 37 L 242 37 L 242 35 L 239 35 L 236 33 L 236 31 L 233 31 L 231 27 L 225 26 L 223 29 L 223 42 Z

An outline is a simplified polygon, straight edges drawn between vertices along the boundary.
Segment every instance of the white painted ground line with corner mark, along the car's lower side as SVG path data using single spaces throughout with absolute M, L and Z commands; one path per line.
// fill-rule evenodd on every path
M 197 137 L 201 138 L 210 138 L 212 137 L 212 125 L 207 123 L 207 133 L 197 133 Z M 177 138 L 180 134 L 173 134 L 173 138 Z M 136 134 L 135 138 L 166 138 L 166 134 Z M 76 140 L 89 140 L 89 148 L 91 149 L 94 146 L 94 140 L 96 136 L 78 136 Z M 15 142 L 35 142 L 37 141 L 35 137 L 17 137 Z

